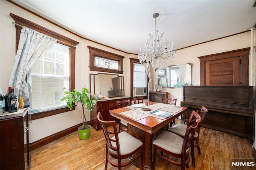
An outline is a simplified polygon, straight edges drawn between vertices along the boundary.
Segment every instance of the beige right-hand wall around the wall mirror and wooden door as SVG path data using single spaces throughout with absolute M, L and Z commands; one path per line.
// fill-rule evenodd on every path
M 169 61 L 167 65 L 192 63 L 193 85 L 200 85 L 200 63 L 198 57 L 246 47 L 250 47 L 250 32 L 178 50 L 176 51 L 174 61 Z M 154 72 L 153 89 L 155 91 L 156 74 L 154 70 L 152 70 L 152 72 Z M 170 98 L 177 98 L 176 105 L 180 106 L 180 101 L 182 101 L 182 88 L 163 88 L 162 91 L 168 91 Z

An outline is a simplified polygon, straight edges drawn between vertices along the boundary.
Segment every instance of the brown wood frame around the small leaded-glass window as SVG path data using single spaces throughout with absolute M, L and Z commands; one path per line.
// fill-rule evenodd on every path
M 91 46 L 87 46 L 87 47 L 89 48 L 89 53 L 90 53 L 90 63 L 89 63 L 90 71 L 102 71 L 102 72 L 107 72 L 107 73 L 118 73 L 118 74 L 124 73 L 124 71 L 123 71 L 124 56 L 118 55 L 115 53 L 111 53 L 108 51 L 104 51 L 102 49 L 98 49 L 98 48 L 91 47 Z M 118 61 L 118 65 L 119 65 L 118 70 L 95 67 L 94 66 L 94 57 L 95 56 Z

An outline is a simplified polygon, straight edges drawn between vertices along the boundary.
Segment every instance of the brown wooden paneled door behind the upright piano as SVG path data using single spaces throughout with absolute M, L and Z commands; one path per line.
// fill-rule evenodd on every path
M 240 85 L 240 57 L 205 62 L 206 85 Z

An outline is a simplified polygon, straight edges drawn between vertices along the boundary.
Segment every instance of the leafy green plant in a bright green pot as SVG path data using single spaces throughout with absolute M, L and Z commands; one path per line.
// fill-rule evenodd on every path
M 93 108 L 96 105 L 96 97 L 91 96 L 90 91 L 86 89 L 88 85 L 84 86 L 79 91 L 74 89 L 73 91 L 68 91 L 64 87 L 64 94 L 66 95 L 61 99 L 61 101 L 66 100 L 66 104 L 70 110 L 73 108 L 74 103 L 81 103 L 82 105 L 82 122 L 83 125 L 78 127 L 79 138 L 81 140 L 87 139 L 90 137 L 90 125 L 87 125 L 84 109 L 88 110 L 88 113 L 93 114 Z

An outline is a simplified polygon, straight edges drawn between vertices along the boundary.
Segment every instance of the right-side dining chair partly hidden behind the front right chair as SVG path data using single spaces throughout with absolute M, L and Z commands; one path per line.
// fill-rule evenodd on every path
M 196 128 L 195 136 L 194 136 L 194 138 L 192 140 L 193 148 L 191 148 L 191 157 L 192 157 L 192 165 L 193 165 L 193 167 L 196 167 L 195 156 L 194 156 L 194 148 L 197 148 L 198 154 L 201 154 L 200 145 L 199 145 L 199 134 L 200 134 L 200 128 L 201 128 L 202 122 L 204 121 L 204 118 L 205 118 L 205 116 L 206 116 L 206 114 L 208 112 L 208 109 L 206 107 L 202 106 L 201 110 L 200 111 L 196 111 L 196 112 L 201 116 L 202 121 L 200 121 L 200 123 L 198 123 L 198 127 Z M 193 123 L 193 121 L 191 123 Z M 190 123 L 190 125 L 191 125 L 191 123 Z M 188 123 L 188 125 L 189 125 L 189 123 Z M 176 123 L 176 125 L 170 127 L 168 130 L 170 132 L 178 134 L 179 136 L 184 137 L 185 133 L 186 133 L 186 127 L 187 127 L 187 125 L 185 125 L 185 124 Z M 196 144 L 194 144 L 194 142 L 196 142 Z

